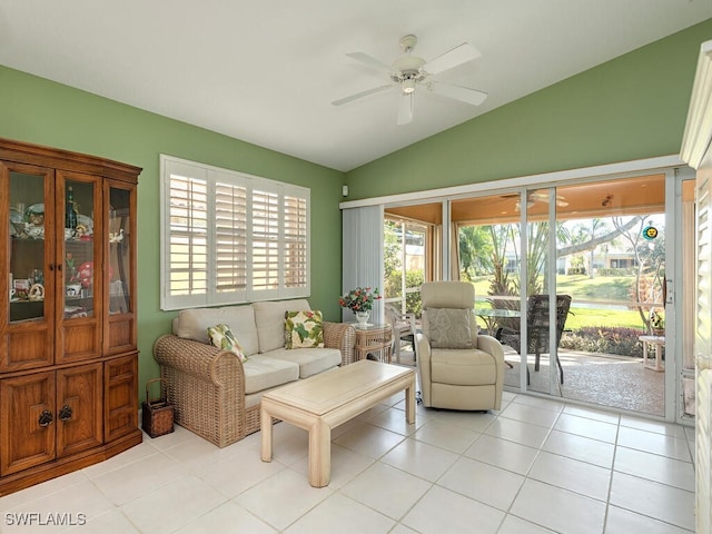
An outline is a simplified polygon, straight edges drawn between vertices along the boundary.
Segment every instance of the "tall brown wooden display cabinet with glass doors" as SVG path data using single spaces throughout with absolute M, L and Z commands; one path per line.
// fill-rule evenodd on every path
M 0 139 L 0 496 L 141 442 L 140 171 Z

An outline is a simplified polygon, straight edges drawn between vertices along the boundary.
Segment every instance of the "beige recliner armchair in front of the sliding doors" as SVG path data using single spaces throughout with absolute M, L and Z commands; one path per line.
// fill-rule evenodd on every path
M 415 336 L 423 404 L 448 409 L 501 409 L 504 350 L 478 335 L 475 287 L 429 281 L 421 287 L 423 333 Z

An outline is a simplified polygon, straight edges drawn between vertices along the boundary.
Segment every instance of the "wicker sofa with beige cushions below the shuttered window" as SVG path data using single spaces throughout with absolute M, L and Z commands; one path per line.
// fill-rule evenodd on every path
M 154 345 L 176 423 L 225 447 L 259 431 L 266 392 L 352 363 L 355 330 L 342 323 L 323 323 L 324 348 L 285 348 L 285 312 L 308 309 L 299 299 L 181 310 Z M 218 324 L 230 327 L 245 363 L 210 345 L 207 328 Z

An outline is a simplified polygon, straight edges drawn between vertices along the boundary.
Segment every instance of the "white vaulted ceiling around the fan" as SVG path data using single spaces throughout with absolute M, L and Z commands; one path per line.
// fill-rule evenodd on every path
M 0 0 L 0 65 L 234 138 L 350 170 L 712 17 L 711 0 Z M 429 61 L 467 41 L 482 57 L 437 79 L 478 107 L 397 88 L 385 63 L 418 38 Z

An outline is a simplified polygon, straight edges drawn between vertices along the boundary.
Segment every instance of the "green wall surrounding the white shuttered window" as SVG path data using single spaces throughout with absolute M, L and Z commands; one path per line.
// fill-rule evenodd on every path
M 139 392 L 158 376 L 151 347 L 170 332 L 159 309 L 159 154 L 312 188 L 312 306 L 339 320 L 343 172 L 0 66 L 0 137 L 144 168 L 138 187 Z

